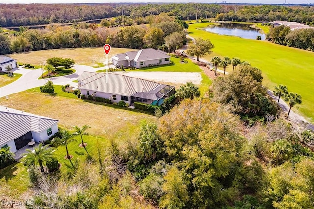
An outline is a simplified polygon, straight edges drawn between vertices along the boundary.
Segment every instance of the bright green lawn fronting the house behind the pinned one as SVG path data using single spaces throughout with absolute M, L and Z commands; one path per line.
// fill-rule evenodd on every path
M 180 63 L 180 58 L 171 57 L 170 60 L 173 62 L 173 64 L 167 64 L 167 65 L 159 65 L 159 66 L 151 66 L 151 67 L 144 67 L 141 69 L 128 69 L 125 68 L 125 71 L 130 72 L 201 72 L 202 69 L 198 67 L 195 63 L 193 63 L 189 59 L 185 59 L 187 63 Z M 105 72 L 106 70 L 98 70 L 97 72 Z

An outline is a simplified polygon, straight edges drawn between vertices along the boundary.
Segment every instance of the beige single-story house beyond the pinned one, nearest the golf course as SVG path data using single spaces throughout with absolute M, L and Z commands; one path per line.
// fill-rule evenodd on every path
M 137 51 L 129 51 L 122 54 L 116 54 L 111 57 L 113 65 L 120 68 L 135 67 L 142 68 L 147 66 L 164 65 L 170 63 L 170 56 L 161 50 L 145 48 Z

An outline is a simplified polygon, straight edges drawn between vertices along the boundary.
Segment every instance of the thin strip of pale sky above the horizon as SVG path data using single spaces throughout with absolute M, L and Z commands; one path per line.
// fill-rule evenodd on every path
M 226 1 L 227 3 L 262 3 L 283 4 L 285 0 L 0 0 L 0 3 L 215 3 Z M 286 4 L 314 3 L 314 0 L 286 0 Z

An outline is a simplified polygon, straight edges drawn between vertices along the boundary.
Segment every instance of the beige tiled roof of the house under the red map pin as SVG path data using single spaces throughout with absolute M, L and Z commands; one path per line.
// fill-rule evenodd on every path
M 86 72 L 78 77 L 80 83 L 84 83 L 79 88 L 96 92 L 112 93 L 123 96 L 131 96 L 137 92 L 148 92 L 159 86 L 159 83 L 133 78 L 122 74 L 108 73 L 108 83 L 106 83 L 106 73 L 94 73 L 93 76 L 82 79 Z

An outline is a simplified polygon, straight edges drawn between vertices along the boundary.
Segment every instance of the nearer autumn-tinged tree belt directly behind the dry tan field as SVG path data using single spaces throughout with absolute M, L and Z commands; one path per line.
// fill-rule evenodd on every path
M 15 34 L 0 34 L 1 54 L 55 48 L 99 47 L 105 43 L 122 48 L 175 50 L 186 42 L 183 20 L 156 16 L 149 26 L 102 27 L 95 23 L 50 26 L 45 29 L 20 27 Z M 185 27 L 184 27 L 185 26 Z

